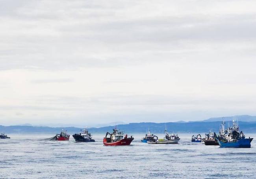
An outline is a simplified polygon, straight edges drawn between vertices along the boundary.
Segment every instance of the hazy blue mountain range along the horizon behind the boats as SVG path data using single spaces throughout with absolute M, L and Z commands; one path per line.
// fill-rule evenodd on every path
M 239 127 L 245 133 L 255 133 L 256 132 L 256 120 L 255 116 L 237 116 L 239 120 Z M 142 123 L 130 123 L 118 125 L 118 128 L 123 130 L 125 133 L 146 133 L 148 129 L 152 133 L 163 133 L 165 126 L 169 132 L 174 133 L 207 133 L 208 131 L 219 131 L 219 126 L 221 124 L 222 118 L 210 118 L 208 120 L 200 122 L 167 122 L 167 123 L 153 123 L 153 122 L 142 122 Z M 226 127 L 228 121 L 232 125 L 233 117 L 226 117 Z M 244 122 L 245 121 L 245 122 Z M 5 133 L 60 133 L 63 127 L 39 127 L 39 126 L 3 126 L 0 125 L 0 132 Z M 81 128 L 78 127 L 65 127 L 65 129 L 70 133 L 78 133 Z M 90 133 L 106 133 L 111 132 L 113 126 L 107 127 L 92 127 L 89 128 Z

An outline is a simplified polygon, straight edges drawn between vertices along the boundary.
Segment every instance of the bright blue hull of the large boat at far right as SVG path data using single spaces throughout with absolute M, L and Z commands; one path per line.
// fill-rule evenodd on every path
M 253 138 L 241 138 L 236 142 L 223 142 L 217 139 L 221 148 L 250 148 L 250 142 Z

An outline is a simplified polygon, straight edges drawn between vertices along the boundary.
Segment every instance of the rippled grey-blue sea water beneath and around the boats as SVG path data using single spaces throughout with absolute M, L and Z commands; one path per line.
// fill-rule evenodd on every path
M 93 136 L 94 143 L 39 140 L 49 135 L 0 139 L 0 178 L 256 178 L 255 140 L 248 149 L 219 148 L 182 134 L 180 144 L 150 145 L 137 134 L 130 146 L 103 146 L 103 136 Z

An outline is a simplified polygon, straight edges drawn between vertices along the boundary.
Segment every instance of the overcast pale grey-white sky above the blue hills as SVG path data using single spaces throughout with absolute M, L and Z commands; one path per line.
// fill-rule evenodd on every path
M 1 0 L 0 125 L 256 115 L 254 0 Z

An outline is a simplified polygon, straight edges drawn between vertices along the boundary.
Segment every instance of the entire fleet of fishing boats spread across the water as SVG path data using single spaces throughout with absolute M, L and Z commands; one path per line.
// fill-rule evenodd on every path
M 44 140 L 69 140 L 69 137 L 70 135 L 67 134 L 67 131 L 62 129 L 60 134 Z M 80 133 L 72 135 L 72 137 L 76 142 L 95 142 L 87 128 L 81 130 Z M 0 138 L 10 137 L 2 133 L 0 134 Z M 133 140 L 134 137 L 128 137 L 127 134 L 124 135 L 123 131 L 117 129 L 115 126 L 112 133 L 106 133 L 106 136 L 103 138 L 103 144 L 105 146 L 123 146 L 130 145 Z M 178 144 L 179 140 L 180 137 L 177 134 L 167 132 L 167 127 L 165 126 L 165 136 L 163 138 L 158 138 L 148 131 L 145 137 L 141 139 L 141 142 L 148 144 Z M 236 120 L 233 120 L 231 127 L 228 125 L 228 128 L 225 129 L 224 118 L 219 129 L 219 135 L 210 131 L 210 133 L 205 134 L 204 138 L 200 134 L 193 135 L 191 138 L 191 142 L 200 142 L 206 146 L 219 145 L 221 148 L 250 148 L 252 140 L 253 138 L 250 137 L 245 138 L 242 131 L 239 133 L 239 126 Z

